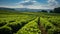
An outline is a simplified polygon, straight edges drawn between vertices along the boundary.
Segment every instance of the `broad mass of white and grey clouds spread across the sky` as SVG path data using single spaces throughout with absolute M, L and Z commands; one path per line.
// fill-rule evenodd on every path
M 30 9 L 53 9 L 58 5 L 56 0 L 47 0 L 47 5 L 41 4 L 36 0 L 24 0 L 16 3 L 16 6 L 4 6 L 9 8 L 30 8 Z

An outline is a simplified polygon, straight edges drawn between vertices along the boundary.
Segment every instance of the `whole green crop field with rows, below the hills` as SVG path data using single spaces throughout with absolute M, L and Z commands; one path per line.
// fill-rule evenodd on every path
M 43 30 L 60 34 L 60 14 L 0 10 L 0 34 L 42 34 Z

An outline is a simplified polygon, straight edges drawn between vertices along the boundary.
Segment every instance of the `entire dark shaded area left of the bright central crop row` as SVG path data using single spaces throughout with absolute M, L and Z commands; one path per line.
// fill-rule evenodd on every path
M 34 20 L 34 19 L 32 19 L 32 20 Z M 23 21 L 23 22 L 20 22 L 20 23 L 14 23 L 15 21 L 12 20 L 12 21 L 9 21 L 9 24 L 7 24 L 7 22 L 1 22 L 0 27 L 4 26 L 5 24 L 7 24 L 6 26 L 8 26 L 8 27 L 7 28 L 6 27 L 0 28 L 0 34 L 14 34 L 14 33 L 17 33 L 17 31 L 19 29 L 21 29 L 24 25 L 26 25 L 28 22 L 30 22 L 32 20 Z

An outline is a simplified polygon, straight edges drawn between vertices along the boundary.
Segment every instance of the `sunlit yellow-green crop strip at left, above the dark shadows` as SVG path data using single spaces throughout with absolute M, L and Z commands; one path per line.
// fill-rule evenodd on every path
M 2 15 L 2 16 L 4 18 L 0 18 L 0 26 L 9 24 L 9 23 L 15 23 L 15 22 L 19 22 L 19 23 L 29 22 L 35 18 L 35 16 L 29 16 L 29 15 Z

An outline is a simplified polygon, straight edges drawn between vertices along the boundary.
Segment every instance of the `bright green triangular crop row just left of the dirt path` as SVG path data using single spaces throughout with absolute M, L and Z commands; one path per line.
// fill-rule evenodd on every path
M 38 29 L 37 19 L 26 24 L 16 34 L 41 34 L 41 31 Z

